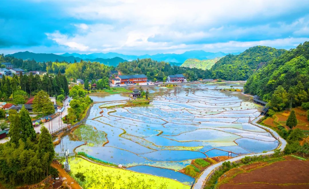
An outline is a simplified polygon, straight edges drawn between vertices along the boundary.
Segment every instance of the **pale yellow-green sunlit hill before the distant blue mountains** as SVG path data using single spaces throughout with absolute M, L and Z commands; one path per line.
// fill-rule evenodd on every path
M 190 58 L 184 61 L 181 67 L 199 68 L 203 70 L 209 70 L 218 60 L 220 60 L 219 57 L 214 58 L 214 59 L 208 59 L 208 60 L 199 60 L 199 59 Z

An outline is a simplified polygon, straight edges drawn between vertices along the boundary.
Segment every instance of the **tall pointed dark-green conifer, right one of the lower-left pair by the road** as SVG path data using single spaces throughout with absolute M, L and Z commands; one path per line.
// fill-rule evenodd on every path
M 36 138 L 36 132 L 33 128 L 29 112 L 24 105 L 19 112 L 19 117 L 21 121 L 21 138 L 23 142 L 26 142 L 28 137 L 31 141 L 34 141 Z

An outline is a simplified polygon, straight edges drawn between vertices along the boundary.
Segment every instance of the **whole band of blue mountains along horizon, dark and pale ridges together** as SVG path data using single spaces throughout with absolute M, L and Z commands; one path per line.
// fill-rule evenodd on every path
M 239 53 L 232 53 L 232 54 L 239 54 Z M 187 59 L 214 59 L 216 57 L 222 57 L 228 55 L 228 53 L 223 52 L 205 52 L 205 51 L 186 51 L 182 54 L 175 54 L 175 53 L 168 53 L 168 54 L 155 54 L 155 55 L 123 55 L 115 52 L 108 52 L 108 53 L 92 53 L 92 54 L 78 54 L 78 53 L 64 53 L 62 55 L 56 55 L 52 53 L 33 53 L 29 51 L 25 52 L 17 52 L 14 54 L 8 54 L 6 56 L 14 56 L 15 58 L 21 58 L 23 60 L 34 59 L 37 62 L 47 62 L 47 61 L 63 61 L 66 60 L 67 62 L 80 61 L 81 59 L 85 61 L 97 61 L 109 66 L 117 66 L 120 62 L 136 60 L 136 59 L 144 59 L 144 58 L 151 58 L 152 60 L 157 61 L 166 61 L 170 62 L 173 65 L 180 66 L 184 63 Z

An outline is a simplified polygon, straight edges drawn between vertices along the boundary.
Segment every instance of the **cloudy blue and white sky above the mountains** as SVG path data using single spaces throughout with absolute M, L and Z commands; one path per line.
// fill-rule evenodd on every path
M 232 53 L 308 40 L 307 0 L 1 0 L 4 54 Z

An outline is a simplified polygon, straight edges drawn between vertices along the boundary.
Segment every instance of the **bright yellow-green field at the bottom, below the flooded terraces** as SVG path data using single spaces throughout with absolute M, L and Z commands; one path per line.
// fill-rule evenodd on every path
M 83 158 L 70 158 L 69 163 L 72 175 L 81 172 L 86 176 L 83 188 L 190 188 L 176 180 L 101 166 Z

